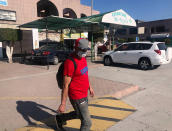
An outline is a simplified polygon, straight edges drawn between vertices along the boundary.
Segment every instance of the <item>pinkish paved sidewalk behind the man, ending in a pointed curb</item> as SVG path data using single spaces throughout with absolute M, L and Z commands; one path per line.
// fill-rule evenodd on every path
M 99 66 L 103 65 L 88 62 L 89 69 L 98 68 Z M 60 104 L 60 90 L 57 88 L 55 81 L 55 74 L 58 67 L 59 65 L 51 65 L 49 70 L 47 70 L 47 66 L 0 62 L 0 105 L 2 106 L 2 112 L 5 113 L 0 118 L 0 123 L 2 124 L 0 124 L 0 130 L 7 129 L 7 131 L 10 131 L 28 125 L 27 121 L 20 117 L 22 115 L 21 112 L 16 111 L 18 107 L 14 103 L 18 101 L 27 100 L 32 105 L 33 103 L 37 103 L 37 105 L 45 105 L 56 110 Z M 106 95 L 121 98 L 139 90 L 137 86 L 132 84 L 110 81 L 94 76 L 90 76 L 90 83 L 96 93 L 95 98 L 90 99 L 90 101 Z M 9 104 L 6 105 L 6 103 Z M 25 109 L 25 106 L 21 107 L 22 111 L 27 113 L 25 110 L 28 109 Z M 11 110 L 6 110 L 7 108 Z M 67 110 L 70 108 L 71 106 L 68 105 Z M 29 111 L 29 113 L 34 119 L 34 113 L 32 111 Z M 49 116 L 52 115 L 54 114 L 52 113 Z M 11 116 L 12 118 L 9 120 Z M 18 123 L 13 123 L 15 121 L 13 118 L 19 119 Z M 10 125 L 12 127 L 8 127 L 8 123 L 5 120 L 9 124 L 11 123 Z M 36 120 L 41 120 L 41 118 L 36 118 Z

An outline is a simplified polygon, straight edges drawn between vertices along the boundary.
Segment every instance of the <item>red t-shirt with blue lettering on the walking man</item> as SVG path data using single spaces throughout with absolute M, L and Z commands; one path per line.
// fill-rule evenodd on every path
M 69 98 L 82 99 L 87 97 L 89 88 L 88 79 L 88 67 L 85 57 L 77 59 L 74 55 L 71 55 L 76 63 L 76 70 L 72 60 L 67 59 L 64 63 L 64 76 L 70 76 L 72 78 L 69 86 Z

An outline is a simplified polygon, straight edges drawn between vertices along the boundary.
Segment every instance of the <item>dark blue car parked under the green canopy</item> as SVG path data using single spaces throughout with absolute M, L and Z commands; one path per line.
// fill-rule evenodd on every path
M 43 63 L 53 63 L 57 65 L 60 61 L 64 61 L 72 51 L 67 50 L 58 44 L 43 45 L 39 49 L 32 50 L 32 61 L 40 61 Z

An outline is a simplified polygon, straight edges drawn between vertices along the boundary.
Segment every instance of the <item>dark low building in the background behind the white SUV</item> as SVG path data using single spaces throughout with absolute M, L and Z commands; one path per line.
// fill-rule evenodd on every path
M 116 32 L 116 37 L 127 40 L 172 40 L 172 19 L 148 22 L 137 20 L 136 28 L 119 29 Z

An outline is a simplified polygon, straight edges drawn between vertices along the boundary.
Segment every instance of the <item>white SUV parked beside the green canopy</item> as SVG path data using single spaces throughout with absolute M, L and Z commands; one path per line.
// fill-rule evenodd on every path
M 137 64 L 142 70 L 165 64 L 166 46 L 163 42 L 129 42 L 104 55 L 104 65 L 112 63 Z

